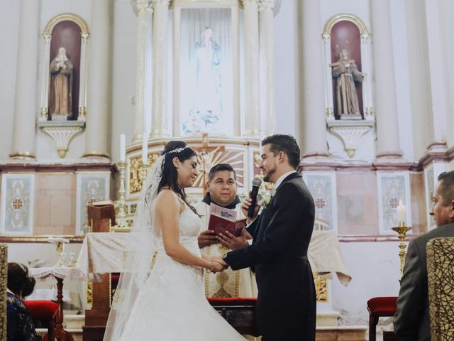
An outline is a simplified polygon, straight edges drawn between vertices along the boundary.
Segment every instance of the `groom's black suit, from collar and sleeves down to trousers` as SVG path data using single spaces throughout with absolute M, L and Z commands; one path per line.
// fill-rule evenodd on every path
M 315 340 L 316 296 L 307 258 L 314 214 L 301 174 L 292 173 L 248 227 L 253 244 L 225 257 L 233 270 L 255 268 L 258 325 L 265 341 Z

